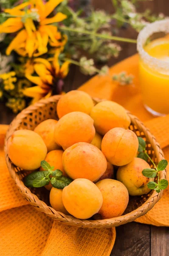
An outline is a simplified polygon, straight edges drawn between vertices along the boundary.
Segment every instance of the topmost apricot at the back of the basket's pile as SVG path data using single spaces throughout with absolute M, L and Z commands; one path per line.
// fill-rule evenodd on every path
M 74 111 L 90 114 L 93 106 L 93 100 L 87 93 L 72 90 L 59 99 L 57 103 L 57 114 L 59 118 Z

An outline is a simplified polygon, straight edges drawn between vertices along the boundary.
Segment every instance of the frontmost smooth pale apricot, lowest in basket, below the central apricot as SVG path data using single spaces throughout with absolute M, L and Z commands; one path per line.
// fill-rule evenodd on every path
M 80 219 L 92 217 L 99 211 L 103 203 L 100 190 L 87 179 L 76 179 L 65 186 L 62 200 L 66 210 Z

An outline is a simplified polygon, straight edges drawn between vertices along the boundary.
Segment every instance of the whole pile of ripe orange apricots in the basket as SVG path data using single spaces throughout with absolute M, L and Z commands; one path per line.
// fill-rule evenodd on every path
M 129 195 L 149 192 L 142 170 L 150 168 L 137 158 L 138 138 L 129 130 L 126 110 L 112 101 L 94 105 L 79 90 L 62 96 L 56 108 L 59 120 L 47 119 L 34 131 L 14 132 L 8 140 L 11 161 L 37 170 L 46 160 L 73 180 L 64 189 L 45 186 L 57 211 L 81 219 L 96 213 L 104 219 L 122 215 Z

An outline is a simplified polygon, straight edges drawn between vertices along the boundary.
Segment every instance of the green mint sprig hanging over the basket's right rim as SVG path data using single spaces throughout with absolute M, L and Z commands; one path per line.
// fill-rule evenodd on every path
M 156 166 L 154 161 L 151 159 L 151 157 L 149 157 L 149 155 L 146 152 L 146 142 L 141 138 L 138 137 L 138 156 L 141 159 L 144 159 L 145 161 L 147 161 L 148 159 L 152 162 L 152 164 L 154 165 L 154 168 L 147 168 L 144 169 L 142 171 L 142 174 L 145 177 L 148 178 L 153 178 L 156 177 L 158 175 L 158 182 L 154 182 L 154 181 L 149 181 L 149 183 L 147 184 L 149 189 L 154 189 L 157 193 L 161 192 L 161 189 L 166 189 L 168 186 L 168 180 L 160 180 L 160 173 L 161 171 L 163 171 L 164 169 L 166 169 L 166 166 L 168 165 L 167 160 L 161 160 L 158 165 Z

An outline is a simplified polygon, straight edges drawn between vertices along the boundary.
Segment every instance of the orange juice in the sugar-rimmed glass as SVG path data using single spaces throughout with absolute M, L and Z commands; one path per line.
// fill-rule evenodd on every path
M 155 39 L 144 50 L 155 61 L 163 61 L 166 67 L 169 65 L 169 36 Z M 154 115 L 169 113 L 169 70 L 155 69 L 148 65 L 144 58 L 139 63 L 140 84 L 143 102 L 146 109 Z

